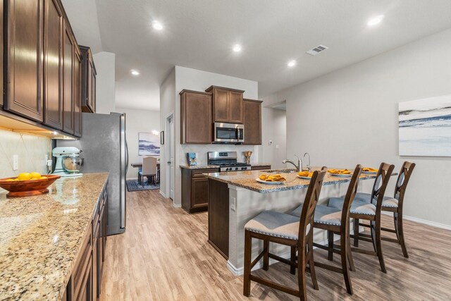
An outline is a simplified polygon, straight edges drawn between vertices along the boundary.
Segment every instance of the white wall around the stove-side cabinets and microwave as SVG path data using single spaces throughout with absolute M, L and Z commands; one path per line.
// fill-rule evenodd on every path
M 175 66 L 175 79 L 171 73 L 160 87 L 160 104 L 161 104 L 161 119 L 168 116 L 168 113 L 173 110 L 175 113 L 175 192 L 174 192 L 174 206 L 181 204 L 181 173 L 180 165 L 186 164 L 185 153 L 197 152 L 200 156 L 200 164 L 206 163 L 206 152 L 217 149 L 235 150 L 239 154 L 245 150 L 252 150 L 252 161 L 259 161 L 259 147 L 254 146 L 236 146 L 236 145 L 180 145 L 180 95 L 181 90 L 204 91 L 211 85 L 230 87 L 233 89 L 244 90 L 244 97 L 249 99 L 258 99 L 258 82 L 253 80 L 244 80 L 242 78 L 233 78 L 228 75 L 221 75 L 202 70 L 195 70 Z M 171 97 L 173 91 L 173 80 L 175 80 L 174 98 Z M 166 94 L 167 92 L 167 94 Z M 175 106 L 167 102 L 173 102 Z M 163 106 L 165 106 L 163 108 Z M 166 122 L 166 121 L 164 121 Z M 165 156 L 165 155 L 163 155 Z M 244 160 L 244 159 L 241 159 Z M 164 170 L 164 171 L 163 171 Z M 166 166 L 162 166 L 161 172 L 166 174 Z M 163 176 L 161 176 L 163 179 Z M 161 191 L 165 192 L 162 188 Z

